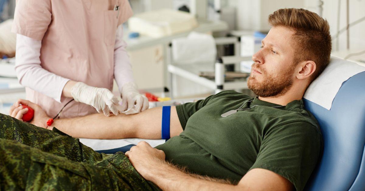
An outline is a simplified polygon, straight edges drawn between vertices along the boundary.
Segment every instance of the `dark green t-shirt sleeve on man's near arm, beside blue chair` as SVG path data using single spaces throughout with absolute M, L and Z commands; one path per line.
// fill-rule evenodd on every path
M 308 122 L 276 126 L 264 133 L 253 166 L 275 172 L 303 190 L 320 156 L 321 135 Z

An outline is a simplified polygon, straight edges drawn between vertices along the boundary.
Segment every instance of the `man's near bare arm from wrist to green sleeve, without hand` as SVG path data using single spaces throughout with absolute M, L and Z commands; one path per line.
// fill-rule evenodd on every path
M 220 183 L 216 180 L 211 181 L 204 177 L 194 177 L 188 173 L 179 171 L 164 161 L 161 161 L 160 164 L 155 166 L 154 173 L 151 176 L 145 178 L 155 183 L 162 190 L 294 190 L 291 182 L 266 169 L 252 169 L 246 173 L 237 185 L 231 185 Z

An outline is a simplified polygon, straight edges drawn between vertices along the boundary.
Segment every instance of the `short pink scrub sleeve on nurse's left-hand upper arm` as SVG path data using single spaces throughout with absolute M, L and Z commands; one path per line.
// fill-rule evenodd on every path
M 51 23 L 50 0 L 17 0 L 12 32 L 38 41 Z

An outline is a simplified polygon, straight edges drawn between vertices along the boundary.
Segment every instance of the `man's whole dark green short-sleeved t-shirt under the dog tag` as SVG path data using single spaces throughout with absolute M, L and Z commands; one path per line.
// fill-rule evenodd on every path
M 224 112 L 242 108 L 227 116 Z M 238 183 L 253 168 L 273 171 L 303 190 L 320 156 L 322 135 L 303 100 L 285 107 L 223 91 L 176 106 L 184 131 L 156 148 L 190 172 Z

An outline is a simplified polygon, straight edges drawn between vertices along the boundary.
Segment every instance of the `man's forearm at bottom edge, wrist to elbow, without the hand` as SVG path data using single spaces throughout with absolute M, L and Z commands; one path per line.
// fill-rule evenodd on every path
M 161 161 L 161 165 L 155 165 L 154 172 L 145 178 L 157 184 L 162 190 L 242 190 L 242 187 L 227 184 L 226 180 L 180 171 L 165 161 Z

